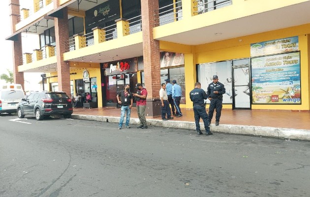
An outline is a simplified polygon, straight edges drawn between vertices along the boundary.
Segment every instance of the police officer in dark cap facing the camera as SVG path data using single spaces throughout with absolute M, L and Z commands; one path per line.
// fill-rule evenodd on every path
M 211 120 L 213 118 L 214 109 L 217 112 L 216 115 L 216 126 L 219 125 L 220 113 L 222 110 L 222 102 L 223 102 L 223 94 L 225 94 L 225 87 L 222 83 L 218 82 L 217 75 L 213 75 L 213 82 L 209 84 L 207 89 L 207 94 L 210 100 L 209 107 L 209 124 L 211 124 Z

